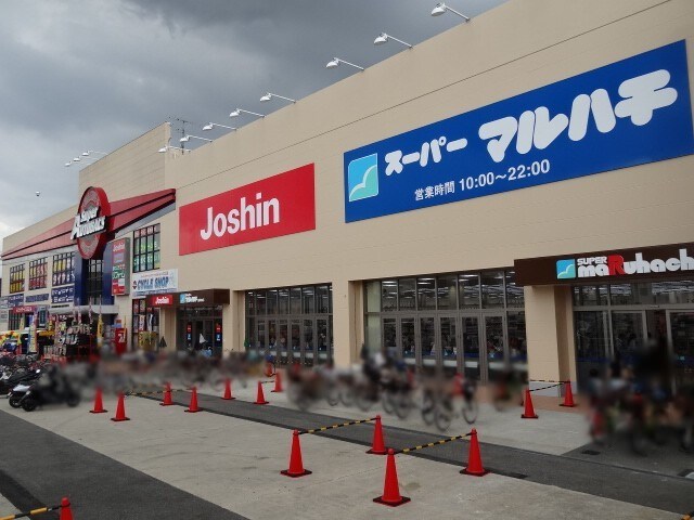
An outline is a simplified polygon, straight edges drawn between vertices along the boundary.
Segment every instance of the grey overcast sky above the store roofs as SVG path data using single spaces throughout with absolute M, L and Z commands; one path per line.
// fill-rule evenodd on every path
M 473 16 L 504 0 L 451 0 Z M 0 238 L 78 202 L 87 150 L 108 153 L 172 118 L 231 125 L 300 99 L 462 22 L 434 0 L 21 0 L 0 17 Z M 242 125 L 249 119 L 233 122 Z M 176 126 L 176 121 L 172 121 Z M 180 125 L 180 123 L 178 123 Z M 210 138 L 221 132 L 209 132 Z M 191 143 L 193 144 L 193 143 Z M 153 151 L 156 153 L 156 151 Z M 37 197 L 35 192 L 40 191 Z

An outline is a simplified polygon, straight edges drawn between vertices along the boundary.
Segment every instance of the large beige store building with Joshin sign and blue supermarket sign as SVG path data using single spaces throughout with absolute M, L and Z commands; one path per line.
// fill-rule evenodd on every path
M 145 234 L 176 287 L 128 312 L 158 309 L 168 348 L 348 365 L 365 344 L 481 380 L 580 382 L 651 334 L 691 381 L 693 37 L 689 0 L 511 0 L 171 150 L 176 209 Z

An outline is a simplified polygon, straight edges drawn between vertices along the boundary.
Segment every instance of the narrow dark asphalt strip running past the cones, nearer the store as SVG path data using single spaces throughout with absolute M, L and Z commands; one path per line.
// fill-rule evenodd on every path
M 156 399 L 156 398 L 145 398 Z M 252 420 L 286 429 L 311 429 L 350 420 L 350 418 L 300 412 L 272 405 L 255 405 L 252 402 L 223 401 L 217 396 L 198 393 L 198 404 L 207 413 Z M 188 407 L 190 394 L 174 393 L 174 402 Z M 364 414 L 363 418 L 372 417 Z M 409 430 L 387 425 L 384 417 L 384 437 L 388 447 L 412 447 L 466 431 L 447 434 Z M 478 430 L 481 458 L 486 469 L 516 479 L 553 485 L 635 505 L 682 514 L 694 504 L 694 481 L 683 477 L 666 476 L 653 471 L 615 466 L 602 461 L 581 459 L 570 455 L 552 455 L 517 447 L 484 442 L 485 432 Z M 370 446 L 373 437 L 371 424 L 327 430 L 317 435 Z M 411 456 L 446 463 L 461 468 L 467 464 L 467 442 L 451 442 L 440 446 L 412 452 Z M 586 457 L 586 455 L 581 455 Z M 683 455 L 684 456 L 684 455 Z M 305 455 L 306 457 L 306 455 Z

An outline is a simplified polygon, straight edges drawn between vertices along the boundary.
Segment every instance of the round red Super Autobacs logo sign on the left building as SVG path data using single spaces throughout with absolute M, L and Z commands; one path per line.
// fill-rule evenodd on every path
M 101 187 L 88 187 L 79 202 L 79 210 L 73 223 L 72 239 L 83 259 L 101 258 L 108 242 L 111 205 L 106 192 Z

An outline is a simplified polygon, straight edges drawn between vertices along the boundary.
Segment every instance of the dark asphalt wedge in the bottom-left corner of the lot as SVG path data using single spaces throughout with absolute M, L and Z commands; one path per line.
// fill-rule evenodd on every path
M 0 517 L 60 504 L 68 496 L 76 520 L 244 519 L 2 411 L 0 432 L 0 495 L 16 508 L 0 510 Z

